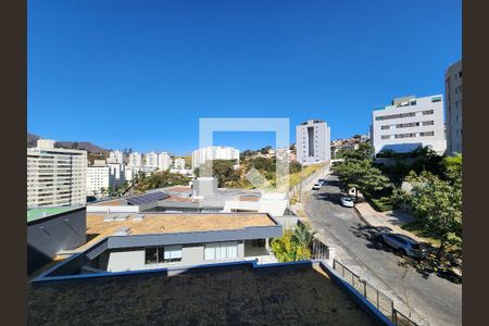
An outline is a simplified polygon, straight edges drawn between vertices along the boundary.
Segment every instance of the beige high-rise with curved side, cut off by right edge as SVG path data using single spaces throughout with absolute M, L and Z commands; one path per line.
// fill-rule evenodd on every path
M 447 153 L 462 153 L 462 60 L 444 74 L 444 118 Z

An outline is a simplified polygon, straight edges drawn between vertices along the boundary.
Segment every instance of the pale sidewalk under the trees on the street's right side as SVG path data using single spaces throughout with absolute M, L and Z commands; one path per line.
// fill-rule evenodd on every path
M 362 202 L 355 204 L 355 210 L 360 217 L 368 225 L 374 227 L 388 227 L 392 231 L 405 235 L 418 242 L 425 242 L 426 239 L 419 238 L 414 234 L 403 229 L 401 225 L 413 222 L 413 217 L 400 211 L 377 212 L 369 203 Z

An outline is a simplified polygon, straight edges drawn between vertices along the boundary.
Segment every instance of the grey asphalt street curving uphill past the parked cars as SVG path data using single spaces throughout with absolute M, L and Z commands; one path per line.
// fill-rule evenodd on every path
M 396 303 L 408 302 L 430 325 L 461 325 L 462 285 L 435 274 L 422 275 L 411 266 L 400 267 L 404 258 L 373 241 L 373 228 L 360 220 L 354 209 L 339 205 L 337 178 L 326 179 L 326 186 L 308 196 L 305 212 L 322 240 L 336 246 L 337 259 Z

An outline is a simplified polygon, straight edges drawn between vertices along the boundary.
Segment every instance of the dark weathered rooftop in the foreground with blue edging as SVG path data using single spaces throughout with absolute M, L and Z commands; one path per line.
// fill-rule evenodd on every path
M 32 325 L 376 325 L 376 319 L 312 264 L 259 272 L 166 271 L 29 284 Z M 68 291 L 66 289 L 70 289 Z

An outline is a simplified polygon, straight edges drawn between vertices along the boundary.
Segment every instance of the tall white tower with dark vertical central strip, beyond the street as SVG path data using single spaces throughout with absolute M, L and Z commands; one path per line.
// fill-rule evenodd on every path
M 313 164 L 331 160 L 330 134 L 327 123 L 321 120 L 310 120 L 298 125 L 297 161 L 301 164 Z

